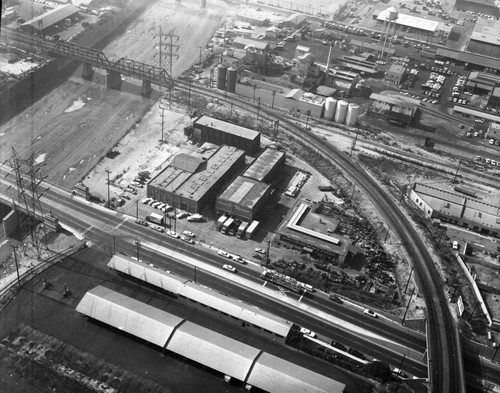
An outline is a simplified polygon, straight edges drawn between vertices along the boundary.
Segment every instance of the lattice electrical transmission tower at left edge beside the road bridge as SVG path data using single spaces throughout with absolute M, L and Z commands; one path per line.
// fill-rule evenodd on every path
M 14 206 L 18 212 L 22 213 L 19 218 L 20 235 L 21 238 L 27 234 L 30 235 L 36 255 L 40 258 L 42 251 L 47 249 L 44 214 L 40 202 L 42 194 L 39 192 L 39 186 L 44 178 L 40 165 L 35 164 L 33 154 L 27 159 L 22 159 L 14 148 L 12 151 L 10 165 L 16 175 L 18 193 Z M 38 232 L 40 222 L 42 223 L 41 232 Z M 26 249 L 26 244 L 24 244 L 24 248 Z

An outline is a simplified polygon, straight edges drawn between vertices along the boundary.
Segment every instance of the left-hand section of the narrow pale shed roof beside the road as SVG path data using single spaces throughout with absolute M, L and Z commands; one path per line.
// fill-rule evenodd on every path
M 175 294 L 180 291 L 185 282 L 189 281 L 147 263 L 123 258 L 119 255 L 113 255 L 107 266 Z

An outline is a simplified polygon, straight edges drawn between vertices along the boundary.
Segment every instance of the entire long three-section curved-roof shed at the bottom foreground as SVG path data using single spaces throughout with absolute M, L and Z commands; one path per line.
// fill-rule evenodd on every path
M 88 291 L 76 310 L 247 387 L 276 393 L 341 393 L 345 389 L 331 378 L 103 286 Z

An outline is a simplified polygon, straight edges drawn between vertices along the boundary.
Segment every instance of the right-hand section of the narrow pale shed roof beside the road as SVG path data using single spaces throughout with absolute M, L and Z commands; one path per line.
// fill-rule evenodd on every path
M 207 307 L 212 307 L 252 325 L 259 326 L 281 337 L 288 336 L 293 326 L 292 322 L 277 315 L 191 282 L 186 283 L 179 295 L 193 299 Z

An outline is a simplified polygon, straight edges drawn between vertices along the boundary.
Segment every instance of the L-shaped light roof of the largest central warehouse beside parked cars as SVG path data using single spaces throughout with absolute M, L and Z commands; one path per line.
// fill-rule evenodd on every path
M 190 173 L 169 165 L 153 178 L 149 184 L 196 201 L 205 195 L 220 177 L 244 155 L 243 150 L 233 146 L 220 146 L 203 162 L 202 170 Z

